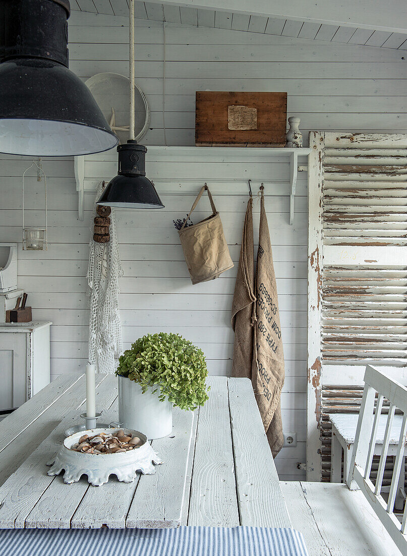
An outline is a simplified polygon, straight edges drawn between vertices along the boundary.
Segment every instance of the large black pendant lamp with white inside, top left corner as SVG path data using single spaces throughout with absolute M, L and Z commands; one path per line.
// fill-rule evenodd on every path
M 119 140 L 68 69 L 68 0 L 0 0 L 0 152 L 73 156 Z

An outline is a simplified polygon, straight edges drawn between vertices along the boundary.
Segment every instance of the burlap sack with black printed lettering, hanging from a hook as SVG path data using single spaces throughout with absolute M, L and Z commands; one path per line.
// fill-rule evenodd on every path
M 280 396 L 284 384 L 284 355 L 278 312 L 276 275 L 268 231 L 264 195 L 260 209 L 260 232 L 256 274 L 256 325 L 254 327 L 252 385 L 273 456 L 284 438 Z

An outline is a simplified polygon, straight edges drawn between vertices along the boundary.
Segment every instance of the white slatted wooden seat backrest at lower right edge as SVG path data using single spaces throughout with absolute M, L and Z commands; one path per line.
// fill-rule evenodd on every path
M 399 483 L 401 464 L 404 461 L 404 450 L 407 438 L 407 388 L 389 379 L 371 366 L 367 366 L 366 368 L 364 382 L 365 386 L 362 404 L 360 406 L 355 444 L 350 461 L 349 474 L 347 476 L 347 484 L 351 490 L 355 488 L 362 490 L 365 498 L 398 546 L 400 552 L 406 555 L 407 535 L 405 529 L 407 525 L 407 504 L 405 505 L 401 524 L 394 515 L 393 508 Z M 379 396 L 376 410 L 374 410 L 376 392 Z M 386 419 L 376 484 L 373 484 L 370 480 L 370 470 L 372 468 L 376 436 L 384 398 L 389 400 L 390 406 Z M 389 498 L 386 501 L 381 495 L 381 484 L 383 482 L 386 456 L 389 450 L 391 428 L 396 408 L 403 413 L 403 421 L 401 423 L 398 448 L 396 450 Z

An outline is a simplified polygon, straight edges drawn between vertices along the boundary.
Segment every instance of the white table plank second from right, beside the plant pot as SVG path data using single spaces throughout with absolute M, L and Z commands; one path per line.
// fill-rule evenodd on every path
M 188 525 L 239 525 L 227 378 L 211 376 L 200 409 Z

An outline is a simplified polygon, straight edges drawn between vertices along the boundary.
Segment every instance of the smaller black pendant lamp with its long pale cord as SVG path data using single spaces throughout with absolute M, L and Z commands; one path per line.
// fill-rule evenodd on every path
M 102 193 L 98 205 L 118 209 L 164 209 L 154 184 L 146 178 L 147 148 L 135 140 L 134 0 L 129 0 L 130 139 L 118 145 L 119 168 Z

